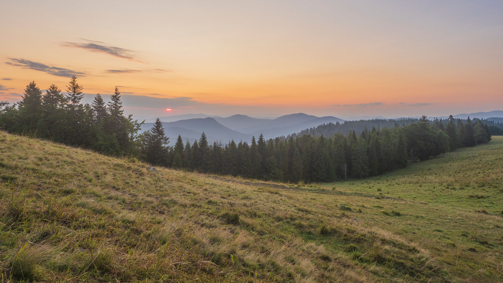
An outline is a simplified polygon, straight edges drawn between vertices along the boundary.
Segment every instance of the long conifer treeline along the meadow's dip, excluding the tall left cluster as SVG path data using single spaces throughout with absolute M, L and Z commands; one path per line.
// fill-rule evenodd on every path
M 160 121 L 154 128 L 161 129 Z M 359 135 L 302 135 L 287 140 L 265 140 L 262 135 L 246 142 L 208 145 L 203 133 L 199 141 L 184 145 L 179 136 L 173 148 L 164 148 L 159 164 L 247 178 L 297 182 L 363 178 L 403 168 L 408 162 L 426 160 L 456 148 L 487 143 L 487 125 L 449 119 L 445 127 L 424 116 L 417 123 L 377 130 L 364 129 Z

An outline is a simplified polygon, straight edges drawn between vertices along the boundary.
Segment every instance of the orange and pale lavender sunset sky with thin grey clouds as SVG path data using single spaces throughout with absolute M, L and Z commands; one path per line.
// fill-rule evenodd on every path
M 503 110 L 503 2 L 2 1 L 0 101 L 26 85 L 125 113 L 447 116 Z M 166 108 L 172 111 L 166 111 Z

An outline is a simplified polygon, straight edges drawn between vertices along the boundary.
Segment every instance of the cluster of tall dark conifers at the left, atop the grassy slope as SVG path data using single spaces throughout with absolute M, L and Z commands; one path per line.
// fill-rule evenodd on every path
M 0 127 L 108 155 L 139 154 L 140 123 L 131 115 L 124 117 L 118 88 L 108 103 L 98 94 L 92 104 L 81 104 L 82 97 L 82 86 L 75 77 L 66 86 L 66 94 L 55 85 L 42 93 L 31 82 L 21 101 L 0 105 Z

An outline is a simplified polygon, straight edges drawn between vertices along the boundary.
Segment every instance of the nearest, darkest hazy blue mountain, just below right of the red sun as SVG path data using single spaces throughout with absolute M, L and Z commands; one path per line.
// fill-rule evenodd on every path
M 148 130 L 152 125 L 153 123 L 145 123 L 142 125 L 141 129 Z M 251 140 L 250 134 L 229 129 L 211 117 L 162 122 L 162 126 L 165 129 L 166 136 L 169 137 L 170 140 L 176 140 L 179 134 L 185 137 L 184 142 L 187 138 L 189 138 L 189 140 L 199 139 L 203 131 L 206 133 L 209 143 L 221 140 L 222 143 L 226 144 L 231 139 L 236 140 L 236 142 L 241 139 L 246 142 Z

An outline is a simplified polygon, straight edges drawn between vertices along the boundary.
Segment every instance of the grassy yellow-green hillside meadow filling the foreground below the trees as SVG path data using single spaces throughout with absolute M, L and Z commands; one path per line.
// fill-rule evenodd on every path
M 500 282 L 502 159 L 496 137 L 387 176 L 285 185 L 0 131 L 2 278 Z

